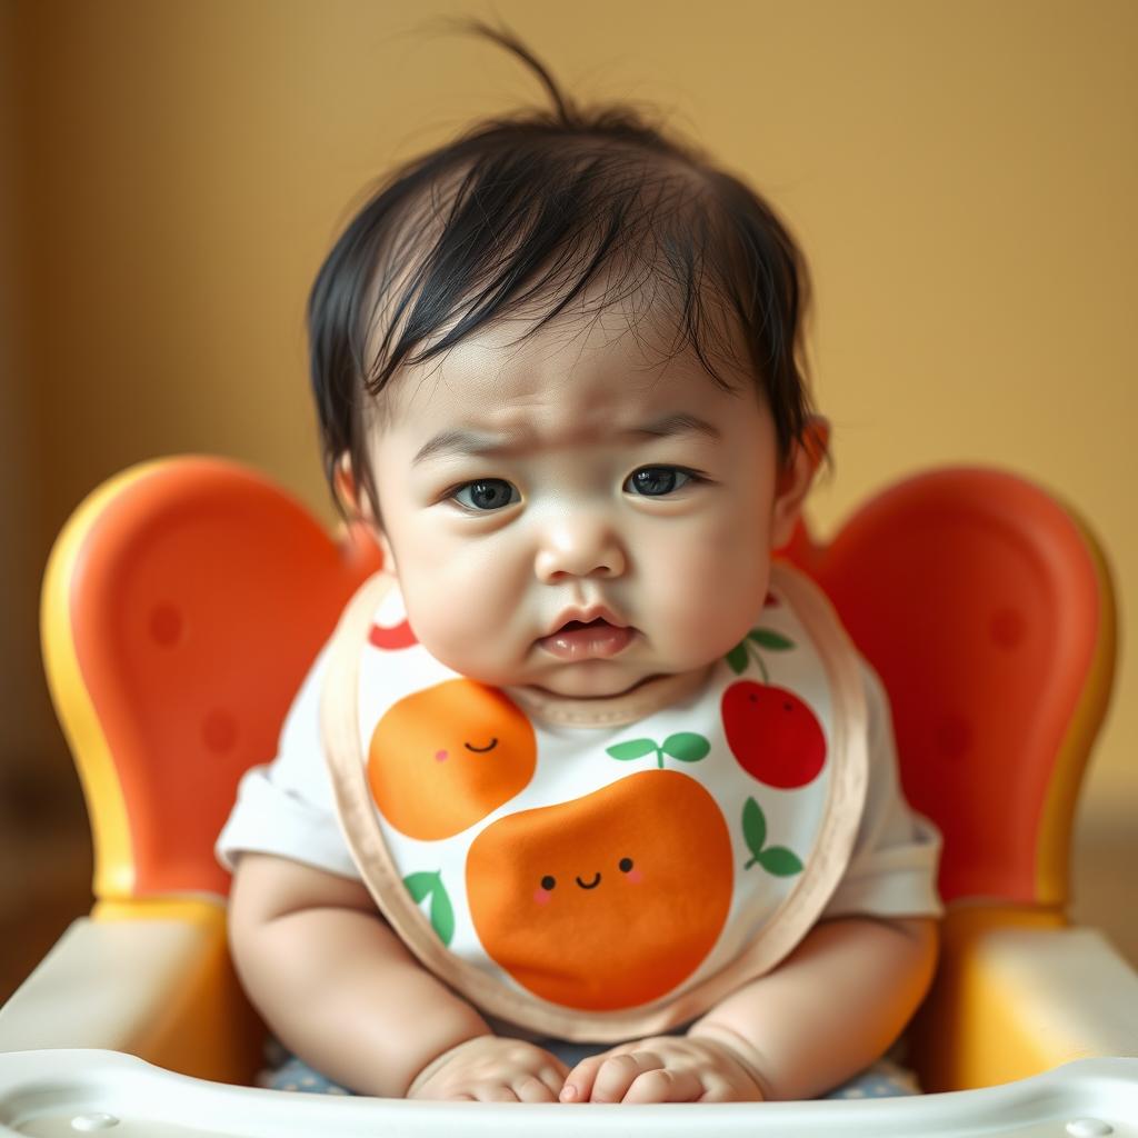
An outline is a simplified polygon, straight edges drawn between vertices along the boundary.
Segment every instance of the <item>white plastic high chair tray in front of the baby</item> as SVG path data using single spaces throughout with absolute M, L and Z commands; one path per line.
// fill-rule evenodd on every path
M 220 1087 L 113 1052 L 0 1055 L 0 1135 L 74 1138 L 1138 1138 L 1138 1059 L 1083 1059 L 948 1095 L 838 1103 L 561 1106 L 345 1099 Z

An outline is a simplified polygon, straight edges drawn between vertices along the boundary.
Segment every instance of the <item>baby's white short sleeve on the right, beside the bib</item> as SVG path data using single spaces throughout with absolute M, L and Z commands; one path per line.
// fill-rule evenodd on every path
M 822 920 L 859 914 L 940 916 L 943 913 L 937 893 L 940 831 L 906 802 L 897 770 L 889 698 L 865 660 L 861 675 L 869 720 L 865 810 L 846 874 Z

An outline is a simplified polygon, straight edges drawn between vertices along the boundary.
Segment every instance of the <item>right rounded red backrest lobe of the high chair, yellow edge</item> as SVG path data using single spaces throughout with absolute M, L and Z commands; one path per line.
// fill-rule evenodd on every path
M 1064 905 L 1115 651 L 1090 534 L 1022 478 L 950 468 L 876 495 L 808 568 L 889 691 L 906 795 L 945 835 L 942 898 Z

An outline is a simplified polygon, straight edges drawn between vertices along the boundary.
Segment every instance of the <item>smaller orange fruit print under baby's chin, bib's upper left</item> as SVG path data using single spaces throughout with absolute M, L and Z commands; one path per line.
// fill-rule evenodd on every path
M 393 703 L 368 748 L 368 784 L 399 833 L 438 841 L 522 791 L 537 765 L 534 728 L 495 687 L 448 679 Z

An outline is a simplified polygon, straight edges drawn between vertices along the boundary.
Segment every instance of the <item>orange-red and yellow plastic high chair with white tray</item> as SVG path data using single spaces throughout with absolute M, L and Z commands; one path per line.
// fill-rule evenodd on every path
M 585 1111 L 596 1135 L 1138 1136 L 1138 976 L 1064 915 L 1115 655 L 1094 537 L 1041 488 L 962 468 L 880 493 L 828 544 L 800 527 L 784 555 L 880 673 L 906 794 L 945 835 L 941 960 L 906 1034 L 927 1094 L 472 1107 L 250 1087 L 264 1028 L 229 962 L 213 843 L 380 554 L 249 470 L 179 457 L 97 489 L 48 566 L 43 651 L 96 905 L 0 1009 L 0 1132 L 501 1138 L 580 1132 Z

